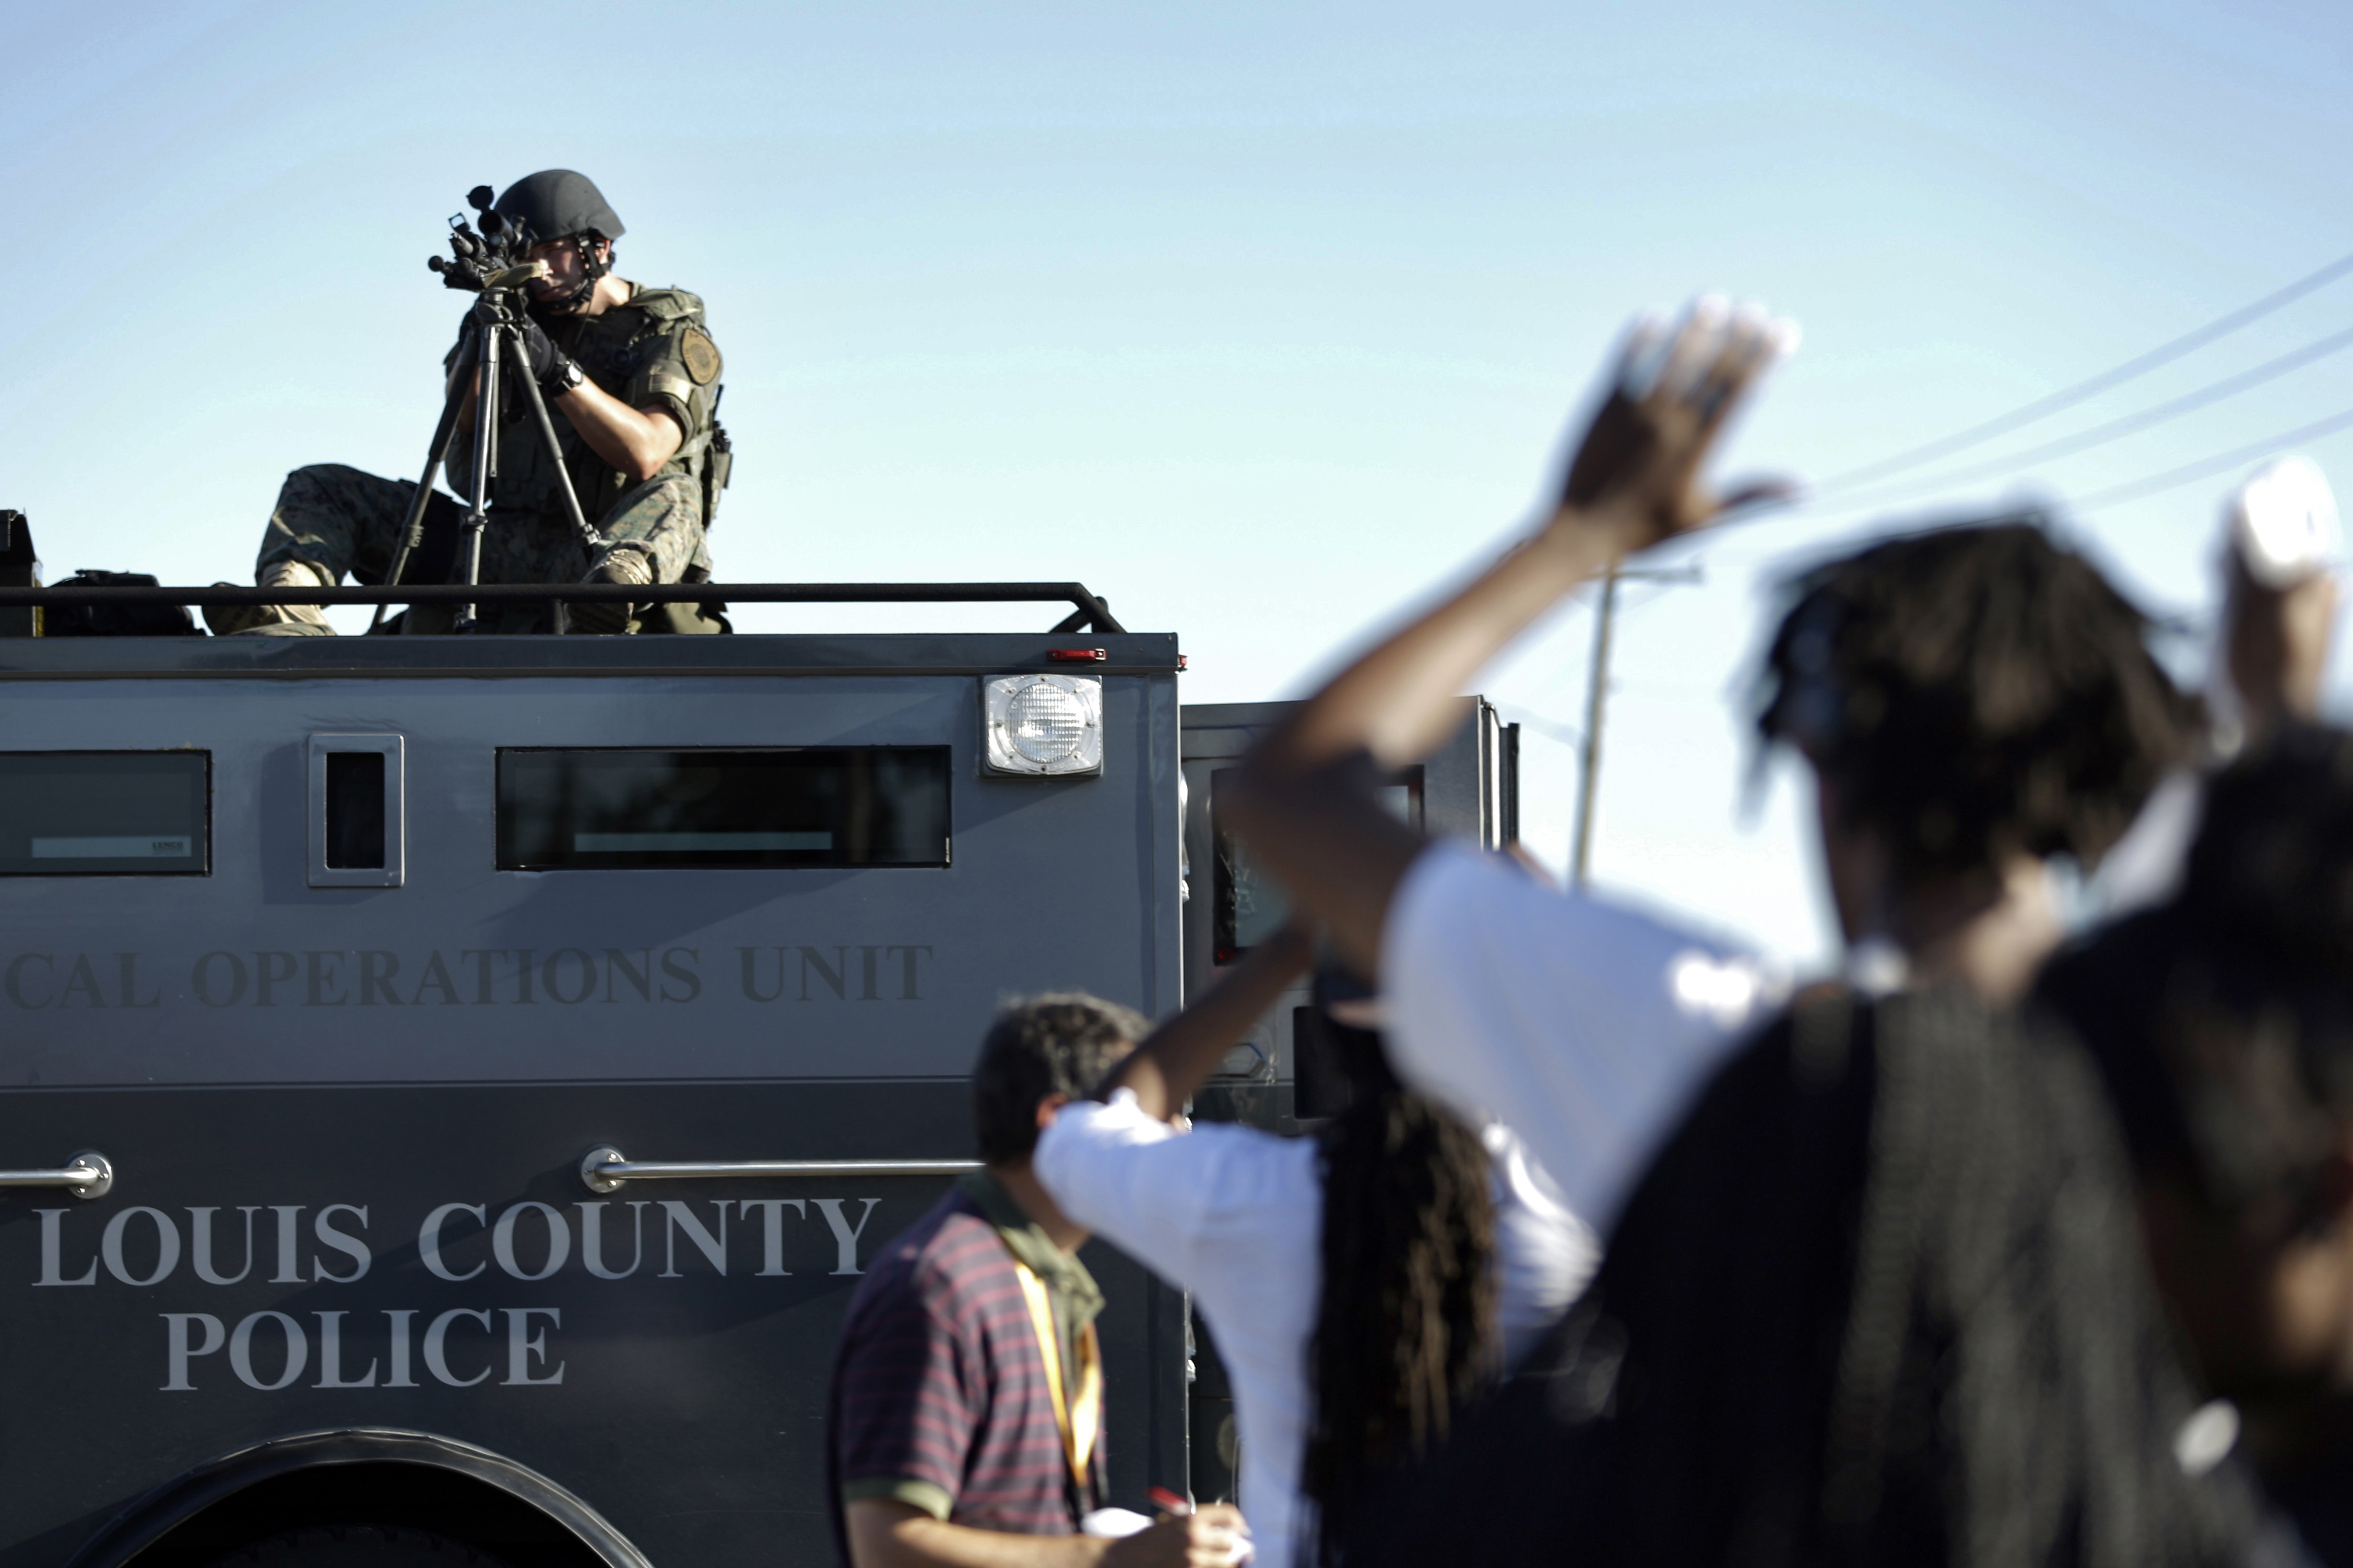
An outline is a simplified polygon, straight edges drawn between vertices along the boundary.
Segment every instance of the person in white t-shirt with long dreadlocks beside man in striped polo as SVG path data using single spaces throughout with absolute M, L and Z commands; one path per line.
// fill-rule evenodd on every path
M 1038 1140 L 1054 1201 L 1193 1293 L 1233 1378 L 1240 1502 L 1273 1568 L 1351 1554 L 1365 1490 L 1569 1305 L 1593 1239 L 1499 1124 L 1464 1121 L 1327 1011 L 1348 1103 L 1313 1138 L 1172 1121 L 1299 978 L 1287 926 Z

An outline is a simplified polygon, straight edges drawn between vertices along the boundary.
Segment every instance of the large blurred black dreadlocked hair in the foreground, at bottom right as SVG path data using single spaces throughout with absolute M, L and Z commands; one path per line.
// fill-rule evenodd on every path
M 1652 1161 L 1586 1295 L 1348 1568 L 2226 1568 L 2132 1171 L 2064 1030 L 1817 990 Z

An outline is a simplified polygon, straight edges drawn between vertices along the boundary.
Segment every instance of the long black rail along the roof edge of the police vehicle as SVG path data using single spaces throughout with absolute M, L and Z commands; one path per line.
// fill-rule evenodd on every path
M 395 588 L 0 588 L 19 604 L 1071 604 L 1047 635 L 1125 632 L 1085 583 L 400 583 Z

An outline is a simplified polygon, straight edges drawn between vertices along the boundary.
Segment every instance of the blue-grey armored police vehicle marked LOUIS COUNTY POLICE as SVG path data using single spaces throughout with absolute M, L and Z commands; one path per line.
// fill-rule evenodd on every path
M 1214 811 L 1273 712 L 1188 724 L 1078 585 L 720 590 L 1045 635 L 26 635 L 104 592 L 0 588 L 0 1568 L 831 1561 L 835 1326 L 969 1164 L 991 1011 L 1167 1013 L 1273 917 Z M 1501 839 L 1506 741 L 1400 809 Z M 1311 1119 L 1306 1034 L 1224 1114 Z M 1221 1493 L 1184 1298 L 1087 1260 L 1115 1500 Z

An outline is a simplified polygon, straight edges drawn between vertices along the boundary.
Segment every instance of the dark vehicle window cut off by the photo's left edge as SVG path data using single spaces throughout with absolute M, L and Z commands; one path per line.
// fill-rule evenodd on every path
M 212 752 L 0 752 L 0 877 L 202 877 Z

